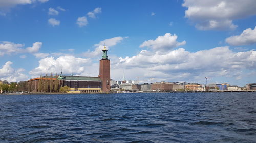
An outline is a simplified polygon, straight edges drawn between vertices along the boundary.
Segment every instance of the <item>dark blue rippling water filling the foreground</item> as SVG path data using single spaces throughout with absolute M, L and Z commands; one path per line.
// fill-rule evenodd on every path
M 0 95 L 0 142 L 256 142 L 256 93 Z

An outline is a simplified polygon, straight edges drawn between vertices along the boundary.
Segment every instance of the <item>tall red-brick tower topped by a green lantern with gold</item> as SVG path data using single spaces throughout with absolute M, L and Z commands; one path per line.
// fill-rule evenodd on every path
M 102 92 L 110 92 L 110 60 L 108 59 L 106 46 L 102 50 L 102 59 L 99 60 L 99 76 L 102 80 Z

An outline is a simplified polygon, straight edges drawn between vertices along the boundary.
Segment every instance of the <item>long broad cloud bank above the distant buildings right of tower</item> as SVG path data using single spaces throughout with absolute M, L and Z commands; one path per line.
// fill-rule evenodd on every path
M 122 77 L 120 69 L 125 69 L 130 79 L 135 79 L 135 72 L 136 76 L 155 81 L 195 82 L 207 76 L 239 79 L 244 69 L 256 70 L 256 51 L 233 52 L 227 46 L 197 52 L 183 48 L 165 53 L 142 50 L 135 56 L 119 58 L 111 66 L 112 78 Z

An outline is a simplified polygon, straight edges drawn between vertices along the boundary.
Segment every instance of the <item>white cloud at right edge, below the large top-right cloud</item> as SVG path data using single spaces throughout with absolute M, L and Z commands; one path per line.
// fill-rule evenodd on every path
M 256 43 L 256 27 L 254 30 L 248 28 L 240 35 L 226 38 L 226 42 L 233 46 L 250 45 Z

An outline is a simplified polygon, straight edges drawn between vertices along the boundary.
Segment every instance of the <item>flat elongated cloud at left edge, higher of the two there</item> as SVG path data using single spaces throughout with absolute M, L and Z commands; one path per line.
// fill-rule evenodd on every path
M 11 55 L 11 54 L 17 54 L 17 53 L 35 53 L 38 52 L 41 48 L 42 42 L 35 42 L 33 43 L 32 47 L 27 47 L 24 49 L 24 44 L 15 44 L 12 42 L 4 41 L 0 43 L 0 56 L 3 56 L 5 54 Z

